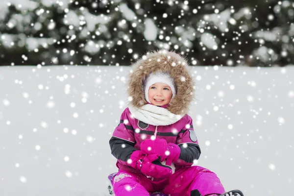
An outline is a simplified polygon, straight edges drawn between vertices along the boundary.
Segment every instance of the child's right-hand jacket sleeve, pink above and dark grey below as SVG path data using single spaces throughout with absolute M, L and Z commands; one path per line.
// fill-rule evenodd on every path
M 192 166 L 194 160 L 199 159 L 201 150 L 193 128 L 193 120 L 188 115 L 186 124 L 188 127 L 190 125 L 190 128 L 183 127 L 176 139 L 176 144 L 180 147 L 181 153 L 175 164 Z

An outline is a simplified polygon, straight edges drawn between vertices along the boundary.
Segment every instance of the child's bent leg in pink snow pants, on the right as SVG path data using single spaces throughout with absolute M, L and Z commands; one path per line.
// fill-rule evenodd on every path
M 191 191 L 202 196 L 224 193 L 224 188 L 218 176 L 199 166 L 179 169 L 169 179 L 169 185 L 163 193 L 171 196 L 190 196 Z M 197 195 L 195 195 L 197 196 Z

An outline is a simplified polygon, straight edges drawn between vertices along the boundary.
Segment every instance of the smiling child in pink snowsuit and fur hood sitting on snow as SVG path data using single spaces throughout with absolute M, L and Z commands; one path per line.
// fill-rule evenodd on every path
M 194 83 L 186 60 L 174 52 L 158 51 L 143 56 L 132 67 L 128 83 L 132 100 L 109 141 L 118 159 L 115 195 L 149 196 L 157 191 L 169 196 L 223 194 L 214 172 L 192 166 L 201 151 L 187 114 Z

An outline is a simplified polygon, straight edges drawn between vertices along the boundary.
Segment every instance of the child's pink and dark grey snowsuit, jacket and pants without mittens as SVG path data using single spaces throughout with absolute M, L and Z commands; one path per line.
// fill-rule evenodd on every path
M 127 163 L 131 154 L 140 150 L 141 142 L 150 138 L 155 132 L 156 138 L 165 139 L 181 149 L 180 156 L 175 162 L 175 172 L 169 178 L 149 178 Z M 201 151 L 192 118 L 187 114 L 171 125 L 153 126 L 131 118 L 131 113 L 126 108 L 109 144 L 112 154 L 118 159 L 119 172 L 113 184 L 116 196 L 149 196 L 150 193 L 157 191 L 170 196 L 190 196 L 193 190 L 199 196 L 225 192 L 214 172 L 192 166 Z

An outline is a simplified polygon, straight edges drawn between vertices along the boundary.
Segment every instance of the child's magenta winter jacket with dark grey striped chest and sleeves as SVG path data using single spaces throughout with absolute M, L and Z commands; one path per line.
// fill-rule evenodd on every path
M 161 107 L 167 107 L 161 106 Z M 109 141 L 112 154 L 118 159 L 117 167 L 127 165 L 126 161 L 135 150 L 140 150 L 140 144 L 145 139 L 156 135 L 158 139 L 165 139 L 181 148 L 181 154 L 176 161 L 176 169 L 191 166 L 200 156 L 200 148 L 193 127 L 192 118 L 185 115 L 178 122 L 166 126 L 154 126 L 131 118 L 128 108 L 123 111 L 120 124 L 115 128 Z

